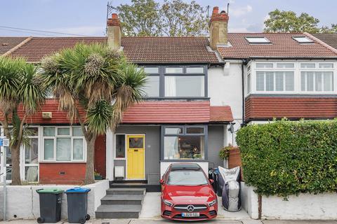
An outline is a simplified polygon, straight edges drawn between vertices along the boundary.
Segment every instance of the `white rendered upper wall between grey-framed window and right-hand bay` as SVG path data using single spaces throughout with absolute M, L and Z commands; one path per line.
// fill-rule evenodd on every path
M 230 62 L 228 71 L 222 66 L 211 67 L 208 70 L 208 93 L 211 106 L 230 106 L 234 118 L 234 131 L 242 124 L 242 69 L 241 62 Z M 227 132 L 227 144 L 236 144 L 235 133 Z M 234 139 L 234 141 L 233 141 Z

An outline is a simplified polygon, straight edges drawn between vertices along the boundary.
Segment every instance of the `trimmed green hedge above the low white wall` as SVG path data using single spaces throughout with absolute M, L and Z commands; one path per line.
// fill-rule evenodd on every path
M 237 143 L 244 181 L 261 195 L 337 191 L 337 120 L 248 125 Z

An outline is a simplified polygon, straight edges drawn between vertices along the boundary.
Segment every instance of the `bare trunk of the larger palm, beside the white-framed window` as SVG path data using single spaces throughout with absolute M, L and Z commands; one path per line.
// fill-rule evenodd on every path
M 86 140 L 86 179 L 84 181 L 84 184 L 95 183 L 95 140 L 95 136 Z

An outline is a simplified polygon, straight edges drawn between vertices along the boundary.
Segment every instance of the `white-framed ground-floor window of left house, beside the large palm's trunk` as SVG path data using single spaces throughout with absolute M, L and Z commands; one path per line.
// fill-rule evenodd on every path
M 86 141 L 81 127 L 43 127 L 42 157 L 45 162 L 85 162 Z

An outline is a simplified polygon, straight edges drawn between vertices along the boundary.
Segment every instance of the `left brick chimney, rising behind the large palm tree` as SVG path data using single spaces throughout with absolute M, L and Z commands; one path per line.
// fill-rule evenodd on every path
M 107 20 L 107 45 L 111 48 L 121 47 L 121 22 L 117 13 Z

